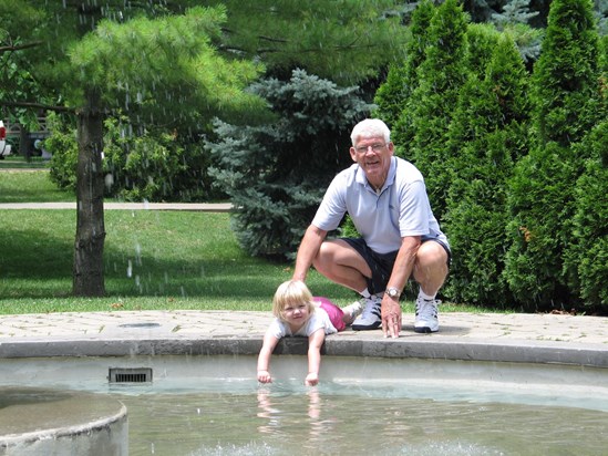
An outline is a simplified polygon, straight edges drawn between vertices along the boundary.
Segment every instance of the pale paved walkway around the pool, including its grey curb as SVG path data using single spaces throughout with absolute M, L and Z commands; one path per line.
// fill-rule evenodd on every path
M 150 354 L 257 354 L 269 312 L 112 311 L 0 315 L 0 359 Z M 326 355 L 559 363 L 608 369 L 608 319 L 568 314 L 440 314 L 418 334 L 404 315 L 399 339 L 381 330 L 329 335 Z M 306 354 L 305 338 L 276 353 Z

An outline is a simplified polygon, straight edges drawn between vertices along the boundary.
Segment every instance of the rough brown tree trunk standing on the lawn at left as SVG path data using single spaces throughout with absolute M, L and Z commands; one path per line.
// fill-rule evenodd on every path
M 103 276 L 103 115 L 100 96 L 87 93 L 87 103 L 78 112 L 79 158 L 76 169 L 76 239 L 74 242 L 73 293 L 105 294 Z

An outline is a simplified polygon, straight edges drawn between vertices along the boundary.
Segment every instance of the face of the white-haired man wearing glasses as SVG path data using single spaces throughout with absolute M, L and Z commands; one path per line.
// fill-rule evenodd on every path
M 369 183 L 381 187 L 387 180 L 393 152 L 393 143 L 385 143 L 382 136 L 372 136 L 359 138 L 357 146 L 350 148 L 350 156 L 361 166 Z

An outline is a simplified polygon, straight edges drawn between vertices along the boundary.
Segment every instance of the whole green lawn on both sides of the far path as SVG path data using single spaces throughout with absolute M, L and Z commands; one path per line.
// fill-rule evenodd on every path
M 48 172 L 0 169 L 0 203 L 72 201 Z M 228 214 L 105 210 L 105 298 L 74 298 L 75 211 L 0 210 L 0 314 L 104 310 L 270 310 L 291 262 L 251 258 Z M 316 296 L 344 305 L 357 296 L 315 270 Z M 406 312 L 411 302 L 403 303 Z M 442 305 L 442 311 L 467 310 Z

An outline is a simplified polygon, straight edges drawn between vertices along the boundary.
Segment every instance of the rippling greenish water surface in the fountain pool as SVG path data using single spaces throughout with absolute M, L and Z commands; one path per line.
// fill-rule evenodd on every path
M 128 408 L 130 455 L 567 455 L 608 447 L 600 411 L 347 395 L 330 382 L 251 386 L 117 395 Z

